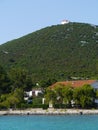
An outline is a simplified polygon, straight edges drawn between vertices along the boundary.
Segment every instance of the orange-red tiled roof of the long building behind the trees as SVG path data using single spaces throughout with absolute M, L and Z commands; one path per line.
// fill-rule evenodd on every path
M 52 86 L 50 87 L 55 87 L 57 84 L 61 84 L 61 85 L 64 85 L 64 86 L 71 86 L 73 88 L 76 88 L 76 87 L 82 87 L 83 85 L 85 84 L 92 84 L 96 82 L 96 80 L 75 80 L 75 81 L 64 81 L 64 82 L 56 82 L 55 84 L 53 84 Z

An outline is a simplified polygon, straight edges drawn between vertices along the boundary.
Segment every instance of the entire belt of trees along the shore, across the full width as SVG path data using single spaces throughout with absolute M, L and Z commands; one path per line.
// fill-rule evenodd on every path
M 31 75 L 24 69 L 12 69 L 6 72 L 0 66 L 0 110 L 4 109 L 25 109 L 25 108 L 43 108 L 47 109 L 50 102 L 54 108 L 96 108 L 94 102 L 98 99 L 98 91 L 95 91 L 91 85 L 85 84 L 81 87 L 73 88 L 62 84 L 51 84 L 55 80 L 48 80 L 36 85 L 32 81 Z M 25 92 L 35 88 L 42 88 L 43 93 L 38 96 L 29 97 L 24 100 Z M 42 104 L 42 98 L 45 98 L 45 104 Z

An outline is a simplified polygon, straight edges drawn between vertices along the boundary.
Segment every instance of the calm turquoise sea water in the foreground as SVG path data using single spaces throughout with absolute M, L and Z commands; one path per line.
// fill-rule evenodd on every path
M 0 116 L 0 130 L 98 130 L 98 115 Z

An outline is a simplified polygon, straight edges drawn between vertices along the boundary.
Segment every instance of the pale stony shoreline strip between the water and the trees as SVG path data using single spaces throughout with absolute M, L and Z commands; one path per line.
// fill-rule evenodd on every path
M 48 108 L 46 110 L 25 109 L 25 110 L 2 110 L 0 116 L 3 115 L 97 115 L 98 109 L 54 109 Z

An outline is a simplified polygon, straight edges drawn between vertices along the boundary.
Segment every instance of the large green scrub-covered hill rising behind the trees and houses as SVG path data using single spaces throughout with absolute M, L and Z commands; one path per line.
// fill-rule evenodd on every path
M 26 68 L 35 81 L 98 77 L 98 26 L 69 23 L 46 27 L 0 46 L 8 71 Z

